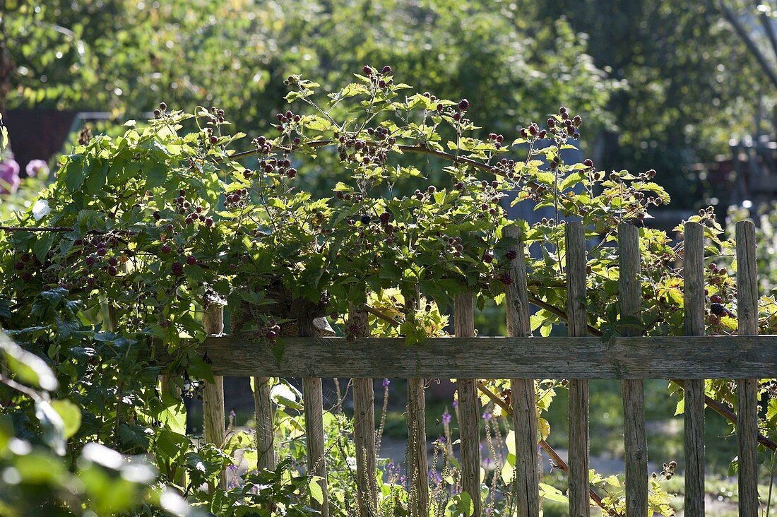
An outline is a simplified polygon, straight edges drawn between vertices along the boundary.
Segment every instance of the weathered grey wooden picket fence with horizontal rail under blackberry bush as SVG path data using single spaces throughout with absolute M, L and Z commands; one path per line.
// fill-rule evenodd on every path
M 515 229 L 508 236 L 518 237 Z M 479 397 L 477 379 L 510 379 L 515 435 L 515 494 L 518 515 L 539 512 L 538 433 L 533 379 L 570 379 L 569 476 L 570 515 L 590 515 L 588 477 L 588 380 L 622 380 L 625 441 L 626 515 L 647 515 L 648 467 L 645 437 L 643 379 L 673 379 L 685 389 L 685 515 L 704 515 L 705 405 L 729 415 L 737 425 L 739 442 L 739 515 L 758 515 L 758 379 L 777 376 L 777 336 L 758 336 L 758 288 L 755 237 L 752 222 L 737 223 L 738 336 L 704 336 L 704 232 L 701 225 L 685 225 L 685 335 L 639 337 L 639 329 L 624 326 L 620 336 L 602 341 L 589 337 L 586 315 L 586 246 L 580 223 L 566 224 L 566 281 L 568 337 L 530 337 L 529 302 L 524 246 L 517 245 L 512 261 L 514 282 L 507 288 L 508 337 L 476 337 L 473 296 L 455 297 L 455 336 L 429 339 L 406 346 L 404 340 L 359 337 L 313 337 L 312 321 L 300 322 L 302 337 L 285 338 L 278 362 L 267 346 L 249 338 L 221 335 L 220 308 L 206 309 L 208 334 L 203 348 L 212 361 L 215 383 L 204 391 L 205 436 L 225 440 L 223 377 L 253 376 L 256 397 L 258 467 L 276 464 L 273 444 L 270 377 L 302 377 L 308 468 L 321 477 L 326 508 L 326 454 L 322 424 L 321 378 L 354 379 L 354 441 L 357 447 L 357 505 L 360 515 L 374 515 L 375 416 L 372 378 L 408 379 L 408 464 L 412 480 L 412 515 L 429 515 L 429 477 L 424 424 L 423 379 L 458 379 L 462 488 L 480 494 Z M 520 239 L 518 239 L 520 240 Z M 620 264 L 619 301 L 622 318 L 639 318 L 642 292 L 639 281 L 639 231 L 618 226 Z M 361 322 L 367 334 L 367 315 L 352 310 L 351 321 Z M 737 414 L 706 398 L 704 379 L 737 379 Z M 716 407 L 717 404 L 717 407 Z M 222 480 L 222 483 L 224 480 Z M 473 498 L 473 515 L 483 515 L 482 502 Z

